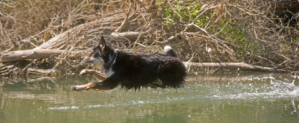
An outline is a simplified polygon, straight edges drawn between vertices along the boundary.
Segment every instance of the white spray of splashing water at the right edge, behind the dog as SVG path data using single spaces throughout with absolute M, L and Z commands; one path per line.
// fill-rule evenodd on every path
M 295 80 L 285 82 L 272 76 L 243 78 L 242 81 L 229 82 L 226 89 L 215 90 L 213 98 L 219 99 L 274 99 L 274 98 L 298 98 L 299 87 Z

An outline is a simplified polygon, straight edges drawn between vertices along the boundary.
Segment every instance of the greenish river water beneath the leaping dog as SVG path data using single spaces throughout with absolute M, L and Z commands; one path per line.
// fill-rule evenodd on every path
M 194 76 L 184 89 L 71 90 L 92 77 L 0 79 L 0 122 L 298 122 L 299 76 Z

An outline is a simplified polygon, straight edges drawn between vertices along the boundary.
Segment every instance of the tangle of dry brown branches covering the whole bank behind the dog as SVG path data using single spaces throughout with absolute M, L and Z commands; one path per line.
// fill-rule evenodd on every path
M 78 58 L 97 45 L 99 35 L 116 39 L 112 41 L 118 48 L 130 51 L 150 53 L 171 45 L 184 61 L 194 53 L 192 62 L 247 62 L 299 70 L 299 16 L 298 10 L 292 10 L 298 1 L 292 6 L 288 6 L 291 0 L 82 0 L 45 6 L 39 2 L 1 1 L 0 50 L 67 52 L 28 60 L 29 64 L 20 67 L 21 72 L 11 74 L 25 74 L 22 71 L 31 67 L 45 68 L 42 64 L 61 74 L 94 69 L 82 66 Z M 24 12 L 28 14 L 23 16 Z

